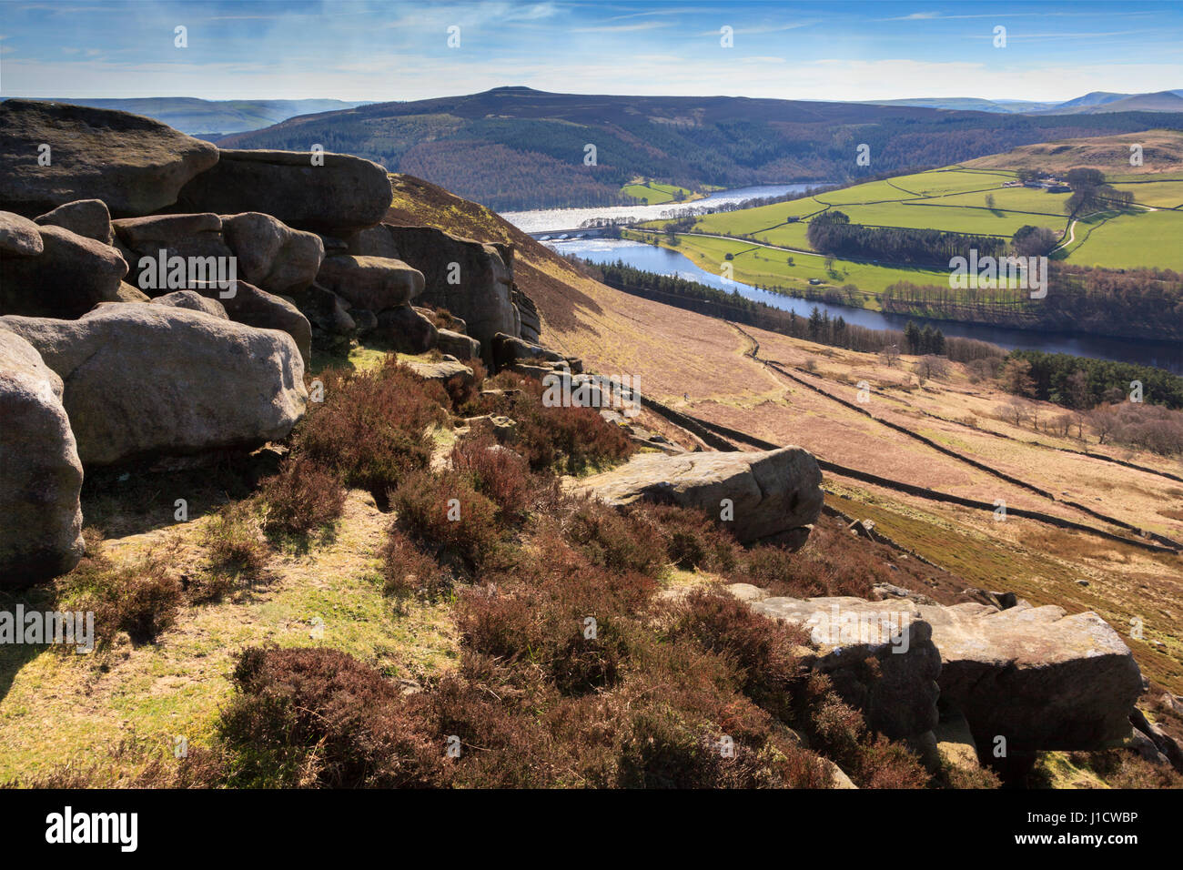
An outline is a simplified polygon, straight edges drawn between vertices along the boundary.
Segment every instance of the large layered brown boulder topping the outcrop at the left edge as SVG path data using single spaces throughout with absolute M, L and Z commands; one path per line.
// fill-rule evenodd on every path
M 41 144 L 50 165 L 40 166 Z M 157 121 L 69 103 L 0 103 L 0 208 L 27 218 L 101 199 L 117 217 L 176 201 L 186 181 L 218 162 L 218 148 Z M 237 210 L 243 211 L 243 210 Z

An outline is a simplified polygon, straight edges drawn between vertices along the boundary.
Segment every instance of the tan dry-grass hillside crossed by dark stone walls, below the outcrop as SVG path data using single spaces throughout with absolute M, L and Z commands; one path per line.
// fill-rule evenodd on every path
M 1081 142 L 1111 148 L 1116 138 Z M 1172 160 L 1183 165 L 1183 135 L 1155 131 L 1140 138 L 1148 150 L 1153 146 L 1164 154 L 1175 154 Z M 1127 144 L 1124 154 L 1129 154 Z M 395 205 L 388 217 L 393 223 L 427 223 L 441 228 L 451 225 L 473 238 L 512 243 L 517 249 L 517 281 L 538 305 L 544 341 L 581 356 L 590 372 L 635 375 L 641 392 L 679 410 L 767 440 L 799 444 L 848 468 L 983 502 L 1001 498 L 1009 507 L 1121 533 L 772 373 L 746 355 L 751 340 L 723 321 L 628 296 L 592 281 L 497 215 L 418 179 L 395 176 L 394 185 Z M 922 387 L 911 372 L 916 357 L 904 356 L 898 367 L 888 368 L 873 354 L 823 347 L 750 327 L 743 331 L 759 342 L 762 357 L 780 361 L 796 376 L 833 395 L 854 400 L 855 385 L 868 381 L 873 399 L 866 407 L 877 417 L 1058 498 L 1183 540 L 1183 483 L 1066 451 L 1087 449 L 1183 477 L 1183 463 L 1177 458 L 1103 446 L 1092 437 L 1082 445 L 1075 439 L 1035 433 L 1029 425 L 1015 427 L 995 418 L 1011 397 L 989 381 L 972 384 L 959 365 L 950 366 L 946 378 Z M 814 367 L 813 374 L 797 368 L 806 365 Z M 684 394 L 690 395 L 689 405 Z M 1065 413 L 1055 405 L 1032 405 L 1041 419 Z M 654 427 L 652 417 L 647 415 L 646 421 Z M 680 442 L 687 443 L 685 438 Z M 968 585 L 1015 591 L 1035 604 L 1058 604 L 1069 612 L 1097 611 L 1126 638 L 1148 676 L 1175 692 L 1183 691 L 1183 556 L 1155 554 L 1032 520 L 1009 517 L 996 522 L 985 511 L 830 473 L 826 475 L 825 486 L 830 494 L 827 501 L 834 507 L 874 518 L 883 531 L 964 578 Z M 1080 585 L 1081 580 L 1088 585 Z M 1131 619 L 1142 620 L 1143 639 L 1131 637 Z

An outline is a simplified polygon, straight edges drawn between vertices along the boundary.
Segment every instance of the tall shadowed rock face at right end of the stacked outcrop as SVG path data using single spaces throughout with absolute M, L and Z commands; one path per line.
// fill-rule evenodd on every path
M 424 273 L 422 305 L 463 317 L 480 342 L 486 362 L 498 333 L 517 336 L 521 318 L 512 301 L 513 249 L 461 239 L 428 226 L 387 226 L 401 259 Z

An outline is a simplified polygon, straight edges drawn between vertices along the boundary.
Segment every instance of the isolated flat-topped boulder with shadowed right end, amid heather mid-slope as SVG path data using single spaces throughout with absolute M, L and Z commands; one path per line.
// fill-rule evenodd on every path
M 609 504 L 638 500 L 672 502 L 720 516 L 730 500 L 732 520 L 722 524 L 742 542 L 807 526 L 821 511 L 821 471 L 801 447 L 758 453 L 640 453 L 612 471 L 569 482 L 573 491 Z

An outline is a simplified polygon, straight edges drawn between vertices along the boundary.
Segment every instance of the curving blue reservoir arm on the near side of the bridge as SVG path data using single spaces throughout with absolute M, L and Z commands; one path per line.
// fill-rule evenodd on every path
M 841 316 L 847 323 L 854 323 L 868 329 L 903 329 L 910 320 L 924 323 L 920 318 L 907 315 L 881 314 L 862 308 L 833 305 L 826 302 L 797 299 L 791 296 L 757 290 L 737 281 L 726 282 L 713 272 L 707 272 L 696 265 L 685 254 L 665 247 L 646 245 L 642 241 L 626 239 L 581 239 L 577 241 L 551 241 L 548 246 L 560 254 L 575 254 L 593 263 L 615 263 L 623 260 L 635 269 L 658 275 L 673 275 L 686 281 L 719 288 L 737 290 L 741 296 L 763 302 L 772 308 L 794 311 L 801 317 L 808 317 L 816 307 L 830 317 Z M 946 336 L 956 335 L 964 339 L 988 341 L 1008 350 L 1043 350 L 1049 354 L 1073 354 L 1092 356 L 1099 360 L 1118 362 L 1136 362 L 1143 366 L 1165 368 L 1175 374 L 1183 374 L 1183 344 L 1168 341 L 1143 341 L 1140 339 L 1111 339 L 1098 335 L 1065 335 L 1028 329 L 1006 329 L 978 323 L 957 323 L 952 321 L 931 321 Z

